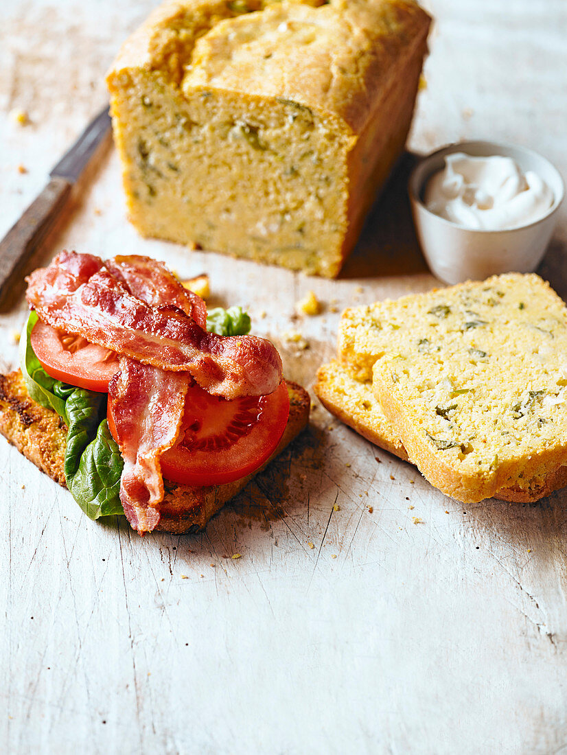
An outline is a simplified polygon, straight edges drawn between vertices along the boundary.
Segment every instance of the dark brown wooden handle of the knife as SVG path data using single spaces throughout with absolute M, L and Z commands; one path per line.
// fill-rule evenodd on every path
M 63 209 L 72 184 L 54 177 L 0 242 L 0 312 L 6 312 L 23 290 L 26 264 Z

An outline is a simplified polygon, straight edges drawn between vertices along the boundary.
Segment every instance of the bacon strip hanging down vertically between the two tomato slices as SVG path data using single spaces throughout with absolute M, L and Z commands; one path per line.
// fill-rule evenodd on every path
M 120 501 L 140 535 L 152 532 L 161 516 L 164 488 L 159 458 L 177 439 L 189 382 L 186 372 L 166 372 L 121 356 L 120 371 L 109 384 L 124 459 Z

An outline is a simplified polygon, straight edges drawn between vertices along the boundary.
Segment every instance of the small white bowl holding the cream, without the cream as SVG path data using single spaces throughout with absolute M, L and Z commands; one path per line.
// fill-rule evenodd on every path
M 544 217 L 510 230 L 474 230 L 434 214 L 424 205 L 428 180 L 445 167 L 445 155 L 511 157 L 522 171 L 535 171 L 553 192 Z M 438 149 L 418 162 L 409 177 L 409 198 L 421 250 L 432 273 L 445 283 L 483 280 L 500 273 L 531 273 L 544 257 L 565 194 L 559 171 L 532 149 L 489 141 L 464 141 Z

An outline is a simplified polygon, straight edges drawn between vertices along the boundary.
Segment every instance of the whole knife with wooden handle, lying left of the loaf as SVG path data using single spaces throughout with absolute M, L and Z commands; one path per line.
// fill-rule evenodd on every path
M 109 133 L 110 126 L 109 108 L 105 107 L 55 165 L 48 185 L 0 241 L 0 312 L 10 309 L 21 294 L 23 276 L 29 272 L 27 265 L 32 255 L 54 225 L 72 186 Z

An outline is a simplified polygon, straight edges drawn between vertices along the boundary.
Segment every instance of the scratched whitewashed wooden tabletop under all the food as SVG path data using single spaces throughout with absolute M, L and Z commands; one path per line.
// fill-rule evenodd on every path
M 102 105 L 103 72 L 152 5 L 0 3 L 0 234 Z M 439 21 L 411 148 L 499 137 L 565 175 L 564 0 L 429 7 Z M 16 107 L 29 125 L 8 117 Z M 248 307 L 257 333 L 304 334 L 310 349 L 282 354 L 310 386 L 334 351 L 335 310 L 435 285 L 403 183 L 328 282 L 139 239 L 109 148 L 42 261 L 65 245 L 207 270 L 214 304 Z M 563 208 L 541 268 L 563 296 L 565 245 Z M 293 320 L 310 288 L 325 313 Z M 22 305 L 0 319 L 3 369 L 23 317 Z M 565 492 L 463 506 L 320 407 L 201 535 L 91 522 L 3 439 L 0 486 L 2 752 L 567 752 Z

